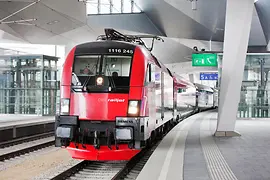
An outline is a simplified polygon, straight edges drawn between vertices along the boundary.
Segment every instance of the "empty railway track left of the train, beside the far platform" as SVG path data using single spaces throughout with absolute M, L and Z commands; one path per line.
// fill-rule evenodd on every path
M 0 161 L 5 161 L 20 155 L 24 155 L 38 149 L 54 145 L 54 136 L 48 133 L 24 138 L 24 140 L 2 143 L 0 148 Z M 19 143 L 20 142 L 20 143 Z M 15 145 L 14 145 L 15 144 Z

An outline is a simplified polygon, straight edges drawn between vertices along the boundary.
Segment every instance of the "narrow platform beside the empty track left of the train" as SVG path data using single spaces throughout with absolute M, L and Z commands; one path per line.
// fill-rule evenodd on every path
M 0 114 L 0 142 L 52 132 L 54 116 Z

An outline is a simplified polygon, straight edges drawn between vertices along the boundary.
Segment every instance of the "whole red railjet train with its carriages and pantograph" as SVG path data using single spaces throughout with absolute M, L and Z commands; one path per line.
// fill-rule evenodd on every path
M 67 55 L 55 146 L 72 158 L 130 160 L 185 117 L 217 107 L 213 88 L 172 73 L 142 38 L 162 40 L 105 29 Z

